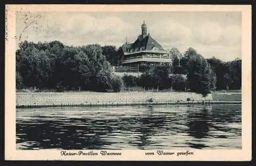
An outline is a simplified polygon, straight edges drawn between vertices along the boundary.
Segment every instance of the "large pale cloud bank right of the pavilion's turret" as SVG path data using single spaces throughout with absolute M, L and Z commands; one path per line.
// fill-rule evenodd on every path
M 213 21 L 192 25 L 169 20 L 159 21 L 151 29 L 165 49 L 176 47 L 184 52 L 193 47 L 206 58 L 215 56 L 223 61 L 241 57 L 241 26 L 224 26 Z

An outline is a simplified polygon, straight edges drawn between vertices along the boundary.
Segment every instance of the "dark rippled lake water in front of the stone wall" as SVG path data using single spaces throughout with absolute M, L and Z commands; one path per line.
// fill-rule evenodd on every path
M 241 149 L 241 104 L 16 109 L 16 148 Z

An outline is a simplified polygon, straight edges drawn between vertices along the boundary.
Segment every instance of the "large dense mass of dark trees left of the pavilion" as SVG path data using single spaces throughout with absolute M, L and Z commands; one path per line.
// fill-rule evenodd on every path
M 17 89 L 118 92 L 121 84 L 98 44 L 74 47 L 59 41 L 24 41 L 16 50 Z

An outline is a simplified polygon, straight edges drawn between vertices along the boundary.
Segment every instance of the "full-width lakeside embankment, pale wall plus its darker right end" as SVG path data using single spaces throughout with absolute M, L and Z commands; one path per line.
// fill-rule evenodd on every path
M 225 94 L 202 97 L 200 94 L 187 92 L 16 93 L 16 107 L 241 103 L 241 95 L 239 100 L 237 93 L 233 94 L 236 97 L 228 98 Z

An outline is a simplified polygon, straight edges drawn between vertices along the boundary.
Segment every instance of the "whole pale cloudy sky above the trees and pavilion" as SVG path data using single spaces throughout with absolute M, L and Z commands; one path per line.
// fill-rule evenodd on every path
M 16 14 L 16 48 L 27 40 L 65 45 L 133 43 L 141 24 L 164 49 L 189 47 L 205 58 L 242 57 L 241 12 L 40 12 Z

